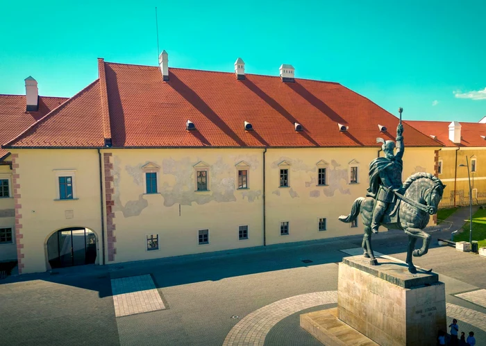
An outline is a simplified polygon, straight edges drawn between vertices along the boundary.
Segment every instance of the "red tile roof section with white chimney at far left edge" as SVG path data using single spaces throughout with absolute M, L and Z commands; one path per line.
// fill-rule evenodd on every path
M 0 119 L 4 125 L 0 130 L 0 144 L 17 137 L 35 121 L 45 116 L 68 98 L 39 96 L 39 109 L 36 112 L 26 111 L 25 95 L 0 95 Z M 8 150 L 0 148 L 0 159 Z

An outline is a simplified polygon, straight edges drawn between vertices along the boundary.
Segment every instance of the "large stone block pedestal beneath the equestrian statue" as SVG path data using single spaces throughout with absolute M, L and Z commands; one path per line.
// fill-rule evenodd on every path
M 358 331 L 369 345 L 371 340 L 382 346 L 435 345 L 438 331 L 446 331 L 444 284 L 435 273 L 410 274 L 404 263 L 383 258 L 378 263 L 370 266 L 362 256 L 345 257 L 340 263 L 335 318 L 341 323 L 336 325 L 342 333 L 345 328 Z M 332 313 L 322 312 L 329 323 Z M 323 320 L 322 315 L 319 318 Z M 344 345 L 342 340 L 324 338 L 330 333 L 328 327 L 316 324 L 310 314 L 301 315 L 301 327 L 321 342 L 326 340 L 325 345 Z

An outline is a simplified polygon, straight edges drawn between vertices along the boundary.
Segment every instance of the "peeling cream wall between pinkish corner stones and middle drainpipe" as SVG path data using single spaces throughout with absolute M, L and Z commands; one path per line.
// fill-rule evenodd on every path
M 111 150 L 116 262 L 245 248 L 263 244 L 262 149 Z M 237 168 L 249 164 L 249 189 L 237 189 Z M 142 166 L 158 173 L 158 193 L 144 191 Z M 196 168 L 208 164 L 209 191 L 196 191 Z M 180 214 L 179 214 L 180 213 Z M 238 226 L 249 225 L 249 239 Z M 210 243 L 198 244 L 208 229 Z M 146 235 L 159 235 L 159 250 L 146 250 Z

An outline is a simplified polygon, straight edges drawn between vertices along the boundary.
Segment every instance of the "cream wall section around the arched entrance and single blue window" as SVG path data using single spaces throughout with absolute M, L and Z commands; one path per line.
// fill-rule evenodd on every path
M 18 153 L 18 182 L 22 208 L 24 270 L 42 272 L 47 265 L 46 243 L 65 227 L 87 227 L 101 248 L 101 202 L 97 150 L 12 150 Z M 77 200 L 56 200 L 56 170 L 76 170 Z M 99 260 L 100 254 L 97 255 Z

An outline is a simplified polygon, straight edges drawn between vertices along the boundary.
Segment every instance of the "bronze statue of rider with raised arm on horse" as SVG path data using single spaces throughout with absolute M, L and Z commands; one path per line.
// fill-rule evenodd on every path
M 430 215 L 437 213 L 446 187 L 439 178 L 430 173 L 415 173 L 402 184 L 403 171 L 403 126 L 402 108 L 399 108 L 400 123 L 396 128 L 396 154 L 394 141 L 377 138 L 384 157 L 377 157 L 369 164 L 369 187 L 366 198 L 359 197 L 351 207 L 351 214 L 340 216 L 340 221 L 351 223 L 361 214 L 364 225 L 362 248 L 364 257 L 371 265 L 378 264 L 371 248 L 371 234 L 378 233 L 378 227 L 403 230 L 408 234 L 406 263 L 410 273 L 417 273 L 412 256 L 424 256 L 430 245 L 430 234 L 424 232 Z M 422 247 L 415 250 L 417 239 L 422 239 Z

